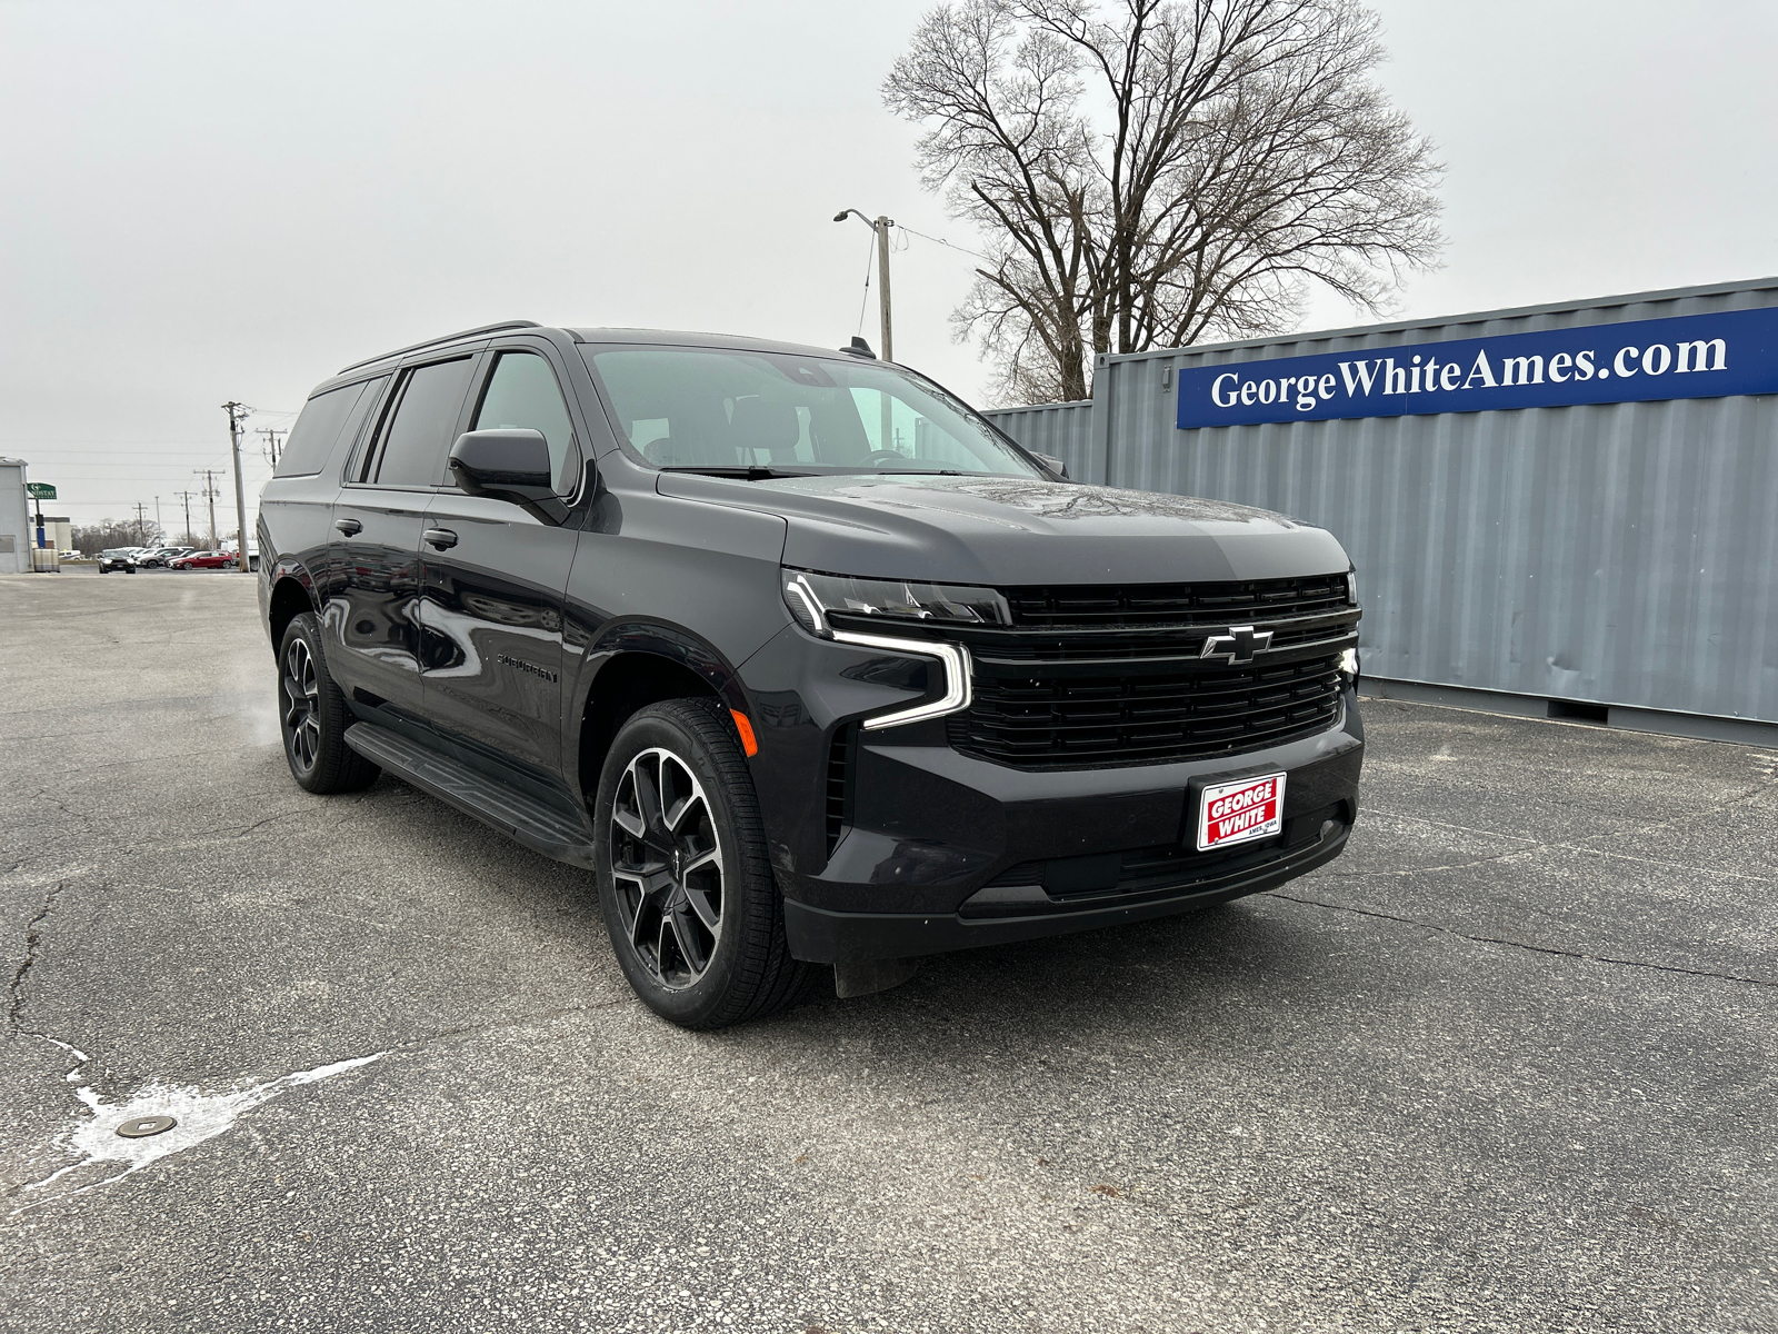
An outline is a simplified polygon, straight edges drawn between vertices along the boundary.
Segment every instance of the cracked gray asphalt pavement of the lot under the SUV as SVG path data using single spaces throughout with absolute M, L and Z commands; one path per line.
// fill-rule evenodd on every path
M 0 1329 L 1778 1329 L 1771 751 L 1371 701 L 1314 875 L 686 1033 L 272 690 L 0 578 Z

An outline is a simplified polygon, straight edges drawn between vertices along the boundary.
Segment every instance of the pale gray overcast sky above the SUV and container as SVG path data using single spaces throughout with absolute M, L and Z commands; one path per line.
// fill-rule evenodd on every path
M 158 494 L 174 530 L 228 464 L 219 404 L 284 427 L 400 343 L 512 317 L 845 343 L 871 237 L 836 210 L 976 244 L 877 92 L 926 7 L 0 0 L 0 455 L 76 523 Z M 1778 5 L 1374 7 L 1447 164 L 1446 265 L 1398 313 L 1778 272 Z M 969 256 L 901 244 L 898 359 L 980 397 Z M 1303 327 L 1355 322 L 1319 297 Z

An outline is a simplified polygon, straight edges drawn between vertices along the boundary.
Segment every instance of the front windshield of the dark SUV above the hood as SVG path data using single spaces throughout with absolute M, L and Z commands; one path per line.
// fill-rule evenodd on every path
M 629 446 L 658 468 L 1042 477 L 937 384 L 861 358 L 583 349 Z

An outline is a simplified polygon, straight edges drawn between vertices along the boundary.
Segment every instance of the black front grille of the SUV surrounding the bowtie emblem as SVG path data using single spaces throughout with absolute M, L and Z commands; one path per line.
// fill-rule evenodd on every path
M 1013 768 L 1159 765 L 1259 751 L 1339 720 L 1357 644 L 1344 576 L 1005 589 L 1012 630 L 958 635 L 974 701 L 951 745 Z M 1230 624 L 1271 631 L 1252 663 L 1204 658 Z

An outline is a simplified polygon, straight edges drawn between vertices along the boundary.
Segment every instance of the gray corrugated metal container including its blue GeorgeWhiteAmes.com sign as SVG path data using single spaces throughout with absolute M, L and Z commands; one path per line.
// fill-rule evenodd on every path
M 1330 528 L 1380 694 L 1771 745 L 1774 331 L 1778 279 L 1728 283 L 1106 356 L 1092 400 L 989 416 L 1077 480 Z

